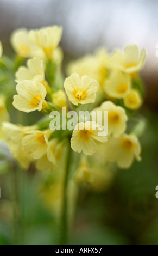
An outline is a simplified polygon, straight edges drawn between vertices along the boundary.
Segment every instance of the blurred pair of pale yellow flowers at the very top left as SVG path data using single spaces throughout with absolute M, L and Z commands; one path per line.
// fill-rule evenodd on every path
M 11 35 L 11 45 L 20 57 L 54 59 L 61 40 L 61 27 L 47 27 L 27 31 L 18 29 Z

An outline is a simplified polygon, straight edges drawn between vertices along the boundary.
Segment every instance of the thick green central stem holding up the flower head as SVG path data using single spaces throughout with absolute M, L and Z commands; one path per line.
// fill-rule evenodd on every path
M 64 187 L 63 187 L 63 197 L 62 197 L 62 206 L 61 206 L 61 221 L 60 221 L 60 245 L 67 244 L 67 236 L 68 236 L 68 216 L 67 216 L 67 185 L 68 185 L 68 177 L 69 177 L 69 169 L 71 164 L 71 147 L 68 142 L 67 149 L 67 163 L 65 169 L 65 179 L 64 179 Z

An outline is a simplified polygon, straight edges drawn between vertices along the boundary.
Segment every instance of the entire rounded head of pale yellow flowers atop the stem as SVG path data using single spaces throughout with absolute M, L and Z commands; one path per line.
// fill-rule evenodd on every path
M 13 97 L 13 106 L 21 112 L 41 113 L 40 120 L 33 125 L 9 123 L 5 101 L 0 98 L 0 125 L 3 122 L 4 138 L 23 168 L 34 162 L 39 170 L 53 170 L 64 148 L 71 144 L 74 159 L 79 155 L 76 153 L 81 156 L 74 164 L 77 170 L 74 181 L 87 181 L 96 189 L 98 180 L 98 187 L 99 184 L 104 187 L 106 181 L 111 180 L 109 164 L 129 168 L 134 159 L 141 160 L 141 145 L 136 135 L 128 132 L 128 121 L 143 102 L 138 72 L 143 68 L 146 53 L 143 49 L 139 54 L 136 45 L 112 54 L 99 49 L 69 63 L 64 80 L 61 34 L 62 28 L 58 26 L 31 31 L 18 29 L 12 33 L 11 45 L 20 59 L 15 72 L 17 94 Z M 96 119 L 93 116 L 90 120 L 78 119 L 71 131 L 52 131 L 49 115 L 58 111 L 61 116 L 62 107 L 77 114 L 93 111 Z M 108 134 L 103 128 L 104 112 L 108 112 Z M 101 123 L 99 113 L 102 113 Z M 66 122 L 68 120 L 67 116 Z M 107 170 L 106 175 L 101 169 Z

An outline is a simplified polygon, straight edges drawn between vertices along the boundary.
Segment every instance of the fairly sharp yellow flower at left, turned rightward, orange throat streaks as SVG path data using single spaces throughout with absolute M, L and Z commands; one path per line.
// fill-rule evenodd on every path
M 37 81 L 23 80 L 16 86 L 18 95 L 14 96 L 13 105 L 20 111 L 41 111 L 46 106 L 47 94 L 45 86 Z

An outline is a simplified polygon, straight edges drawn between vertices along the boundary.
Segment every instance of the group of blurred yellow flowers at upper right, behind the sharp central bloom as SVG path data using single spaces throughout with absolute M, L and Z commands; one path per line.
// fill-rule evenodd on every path
M 136 110 L 142 105 L 142 95 L 137 87 L 138 72 L 143 68 L 146 52 L 139 56 L 136 45 L 127 46 L 124 52 L 118 50 L 111 55 L 98 50 L 70 63 L 67 74 L 76 72 L 79 76 L 90 75 L 100 84 L 100 90 L 109 99 L 123 100 L 124 106 Z

